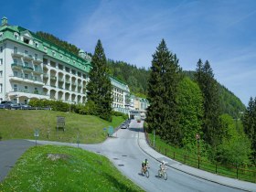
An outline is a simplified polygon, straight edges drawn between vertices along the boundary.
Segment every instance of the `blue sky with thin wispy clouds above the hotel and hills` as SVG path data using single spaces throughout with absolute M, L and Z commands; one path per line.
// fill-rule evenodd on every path
M 210 62 L 215 78 L 247 105 L 256 97 L 255 0 L 5 1 L 10 25 L 45 31 L 93 53 L 149 68 L 162 38 L 179 65 Z

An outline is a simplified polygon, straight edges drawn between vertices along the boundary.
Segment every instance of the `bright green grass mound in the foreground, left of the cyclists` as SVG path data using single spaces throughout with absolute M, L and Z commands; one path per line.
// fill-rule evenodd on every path
M 0 183 L 0 191 L 143 191 L 102 155 L 43 145 L 27 150 Z

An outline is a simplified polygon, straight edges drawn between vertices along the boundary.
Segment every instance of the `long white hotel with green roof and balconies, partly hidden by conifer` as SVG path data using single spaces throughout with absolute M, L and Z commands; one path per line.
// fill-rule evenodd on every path
M 2 19 L 0 101 L 27 103 L 35 98 L 84 103 L 90 69 L 91 58 L 84 51 L 75 56 L 25 28 L 8 26 L 7 19 Z M 129 87 L 114 78 L 111 82 L 112 107 L 126 112 Z

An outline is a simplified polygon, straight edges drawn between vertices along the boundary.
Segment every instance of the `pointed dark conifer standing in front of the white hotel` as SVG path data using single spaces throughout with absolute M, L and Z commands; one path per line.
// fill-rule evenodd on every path
M 87 87 L 88 101 L 96 105 L 96 114 L 112 121 L 112 84 L 107 74 L 107 59 L 99 39 L 91 59 L 92 69 Z

